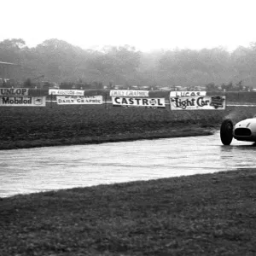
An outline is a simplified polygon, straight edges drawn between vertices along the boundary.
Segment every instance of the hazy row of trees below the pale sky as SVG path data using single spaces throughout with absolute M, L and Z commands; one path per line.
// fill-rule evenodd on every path
M 144 53 L 129 45 L 109 46 L 101 51 L 81 49 L 58 39 L 28 48 L 22 39 L 7 39 L 0 42 L 0 61 L 19 64 L 4 72 L 23 82 L 44 75 L 44 79 L 56 83 L 79 80 L 106 85 L 185 87 L 256 84 L 256 43 L 231 53 L 222 48 Z

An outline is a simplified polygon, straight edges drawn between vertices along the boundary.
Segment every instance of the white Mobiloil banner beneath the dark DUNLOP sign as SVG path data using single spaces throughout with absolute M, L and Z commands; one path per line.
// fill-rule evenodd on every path
M 0 107 L 45 107 L 45 100 L 45 96 L 0 96 Z

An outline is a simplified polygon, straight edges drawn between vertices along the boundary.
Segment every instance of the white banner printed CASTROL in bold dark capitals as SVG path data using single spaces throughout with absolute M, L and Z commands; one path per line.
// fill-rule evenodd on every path
M 113 106 L 166 108 L 165 98 L 112 97 Z

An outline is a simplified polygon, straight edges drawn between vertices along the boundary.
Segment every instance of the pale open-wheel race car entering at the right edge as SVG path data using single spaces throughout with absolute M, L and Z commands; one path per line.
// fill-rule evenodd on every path
M 225 119 L 220 127 L 220 139 L 224 145 L 230 145 L 233 137 L 238 141 L 256 142 L 256 115 L 252 119 L 244 119 L 233 124 Z

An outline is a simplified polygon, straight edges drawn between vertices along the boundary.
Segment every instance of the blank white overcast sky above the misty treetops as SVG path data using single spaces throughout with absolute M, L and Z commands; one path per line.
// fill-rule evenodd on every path
M 255 0 L 0 0 L 0 41 L 58 38 L 88 49 L 233 50 L 256 42 Z

